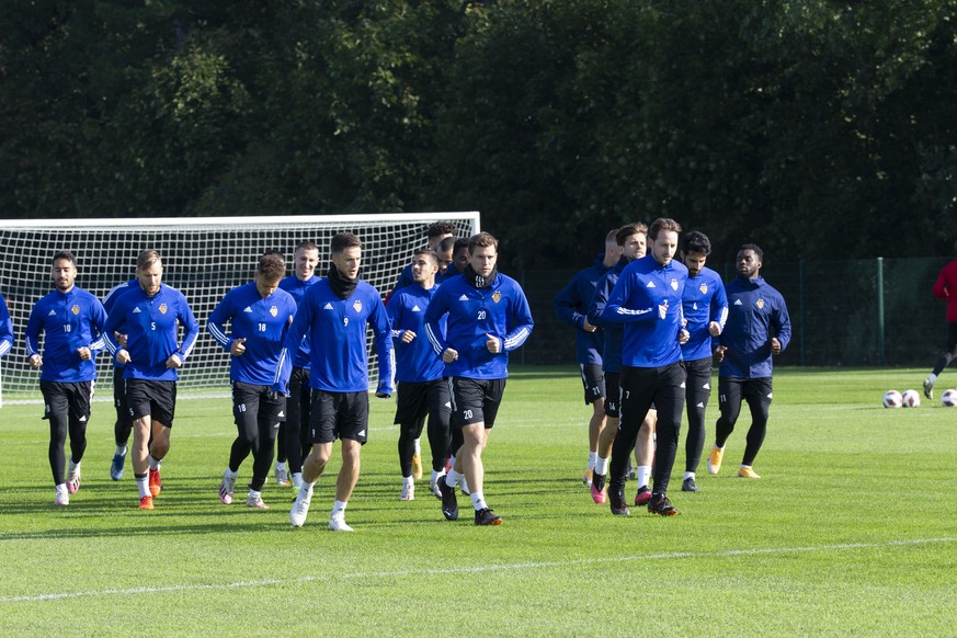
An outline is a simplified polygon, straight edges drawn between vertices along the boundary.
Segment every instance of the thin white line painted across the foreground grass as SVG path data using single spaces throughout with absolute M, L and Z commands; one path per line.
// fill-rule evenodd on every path
M 888 540 L 887 543 L 844 543 L 841 545 L 817 545 L 809 547 L 768 547 L 765 549 L 728 549 L 725 551 L 673 551 L 670 554 L 650 554 L 641 556 L 617 556 L 607 558 L 581 558 L 578 560 L 555 560 L 536 562 L 516 562 L 513 565 L 485 565 L 477 567 L 458 567 L 447 569 L 407 569 L 398 571 L 368 571 L 330 576 L 304 576 L 296 579 L 250 580 L 219 584 L 185 584 L 149 588 L 130 588 L 116 590 L 92 590 L 86 592 L 61 592 L 55 594 L 37 594 L 32 596 L 0 597 L 0 603 L 34 603 L 79 599 L 83 596 L 114 596 L 130 594 L 155 594 L 162 592 L 186 592 L 203 590 L 229 590 L 242 588 L 273 586 L 315 581 L 352 580 L 364 578 L 397 578 L 407 576 L 429 576 L 446 573 L 477 573 L 482 571 L 508 571 L 520 569 L 542 569 L 548 567 L 572 567 L 576 565 L 600 565 L 609 562 L 631 562 L 636 560 L 667 560 L 671 558 L 714 558 L 722 556 L 754 556 L 768 554 L 794 554 L 799 551 L 845 551 L 848 549 L 876 549 L 881 547 L 901 547 L 913 545 L 930 545 L 932 543 L 957 543 L 957 537 L 914 538 L 910 540 Z

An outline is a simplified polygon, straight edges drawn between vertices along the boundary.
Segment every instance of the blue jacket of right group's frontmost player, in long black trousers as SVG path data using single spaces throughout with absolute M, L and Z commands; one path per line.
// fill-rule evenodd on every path
M 682 328 L 681 296 L 686 281 L 683 263 L 671 260 L 661 265 L 651 254 L 636 259 L 622 271 L 602 319 L 625 324 L 623 366 L 662 367 L 681 361 L 677 332 Z

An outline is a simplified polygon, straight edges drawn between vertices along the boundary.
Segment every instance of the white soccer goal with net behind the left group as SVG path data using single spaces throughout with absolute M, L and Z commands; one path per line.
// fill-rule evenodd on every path
M 135 276 L 140 251 L 156 249 L 163 259 L 163 283 L 180 289 L 201 326 L 196 345 L 180 373 L 180 388 L 227 391 L 229 356 L 205 332 L 213 309 L 231 288 L 252 281 L 266 250 L 286 257 L 293 273 L 293 252 L 300 241 L 319 247 L 316 274 L 329 267 L 329 244 L 338 232 L 354 232 L 363 242 L 360 277 L 385 295 L 415 250 L 425 246 L 429 226 L 452 223 L 457 235 L 480 230 L 478 212 L 383 213 L 276 217 L 206 217 L 153 219 L 0 220 L 0 292 L 13 321 L 13 349 L 0 360 L 0 406 L 39 395 L 38 374 L 26 364 L 24 331 L 30 310 L 53 289 L 53 255 L 69 250 L 77 257 L 77 286 L 101 300 L 116 284 Z M 372 340 L 369 340 L 372 343 Z M 109 353 L 98 356 L 100 388 L 109 388 L 113 366 Z M 378 367 L 371 353 L 369 377 L 375 387 Z M 109 392 L 106 392 L 109 394 Z

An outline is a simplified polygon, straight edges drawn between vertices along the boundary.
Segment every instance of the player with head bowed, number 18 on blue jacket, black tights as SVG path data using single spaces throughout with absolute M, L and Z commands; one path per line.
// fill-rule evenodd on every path
M 272 385 L 286 329 L 296 314 L 293 296 L 280 289 L 284 274 L 286 262 L 282 255 L 262 255 L 254 282 L 226 293 L 206 322 L 213 339 L 231 355 L 232 415 L 239 432 L 219 486 L 219 500 L 227 505 L 232 502 L 239 466 L 252 452 L 252 481 L 246 506 L 269 509 L 262 500 L 262 487 L 273 460 L 276 432 L 286 418 L 286 397 Z M 228 334 L 227 321 L 231 327 Z

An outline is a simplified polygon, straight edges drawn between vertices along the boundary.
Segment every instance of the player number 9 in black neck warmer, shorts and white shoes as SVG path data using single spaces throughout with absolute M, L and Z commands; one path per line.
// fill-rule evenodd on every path
M 392 335 L 378 292 L 358 278 L 362 242 L 351 232 L 332 238 L 332 265 L 324 280 L 309 287 L 286 334 L 273 388 L 288 394 L 292 357 L 303 337 L 311 343 L 309 443 L 303 463 L 303 487 L 289 521 L 301 527 L 309 513 L 312 488 L 326 469 L 332 443 L 342 441 L 342 468 L 335 481 L 335 503 L 329 519 L 333 532 L 352 532 L 345 508 L 360 474 L 360 453 L 368 437 L 368 362 L 366 329 L 375 335 L 379 362 L 376 397 L 392 394 Z

